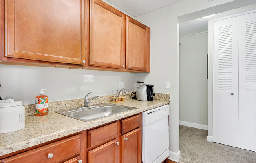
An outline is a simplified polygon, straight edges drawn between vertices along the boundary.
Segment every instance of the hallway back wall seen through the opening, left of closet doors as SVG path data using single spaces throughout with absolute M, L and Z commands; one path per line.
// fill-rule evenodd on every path
M 208 125 L 208 32 L 180 40 L 179 120 Z

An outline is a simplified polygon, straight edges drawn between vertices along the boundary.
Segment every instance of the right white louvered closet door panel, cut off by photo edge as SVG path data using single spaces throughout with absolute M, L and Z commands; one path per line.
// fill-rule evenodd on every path
M 256 13 L 239 22 L 238 147 L 256 151 Z

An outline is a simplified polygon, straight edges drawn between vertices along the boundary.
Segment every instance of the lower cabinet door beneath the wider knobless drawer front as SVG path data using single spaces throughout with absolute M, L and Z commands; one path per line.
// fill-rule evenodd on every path
M 117 163 L 117 140 L 110 141 L 88 152 L 88 163 Z

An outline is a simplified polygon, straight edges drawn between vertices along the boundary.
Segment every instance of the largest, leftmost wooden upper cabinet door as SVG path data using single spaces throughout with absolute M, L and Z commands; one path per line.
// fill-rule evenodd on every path
M 85 0 L 5 0 L 5 56 L 84 64 L 87 10 Z

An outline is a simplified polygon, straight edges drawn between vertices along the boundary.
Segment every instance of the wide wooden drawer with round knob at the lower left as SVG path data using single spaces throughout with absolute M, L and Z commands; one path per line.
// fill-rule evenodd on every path
M 3 159 L 2 163 L 55 163 L 81 152 L 82 134 Z M 53 154 L 48 158 L 48 154 Z

